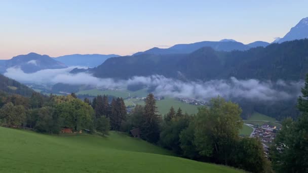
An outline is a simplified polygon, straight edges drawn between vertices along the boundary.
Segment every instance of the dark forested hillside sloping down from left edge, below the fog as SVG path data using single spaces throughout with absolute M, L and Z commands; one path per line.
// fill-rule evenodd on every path
M 0 92 L 30 97 L 34 91 L 18 81 L 0 74 Z

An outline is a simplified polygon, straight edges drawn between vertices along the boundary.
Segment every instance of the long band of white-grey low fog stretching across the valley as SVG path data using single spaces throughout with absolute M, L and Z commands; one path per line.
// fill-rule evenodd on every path
M 35 73 L 24 73 L 19 68 L 9 68 L 6 76 L 17 81 L 29 83 L 65 83 L 73 85 L 91 85 L 103 88 L 126 89 L 129 85 L 142 85 L 151 89 L 155 95 L 185 97 L 208 100 L 218 95 L 227 99 L 245 98 L 260 101 L 294 99 L 300 94 L 303 81 L 284 80 L 260 81 L 257 79 L 240 80 L 235 77 L 209 81 L 184 82 L 166 78 L 162 75 L 134 76 L 128 80 L 97 78 L 89 73 L 69 73 L 74 67 L 65 69 L 46 69 Z

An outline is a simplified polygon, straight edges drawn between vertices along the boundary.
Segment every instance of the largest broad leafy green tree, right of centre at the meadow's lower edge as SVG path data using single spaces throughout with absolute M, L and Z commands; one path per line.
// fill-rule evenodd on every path
M 195 128 L 195 144 L 201 156 L 228 164 L 232 159 L 230 148 L 239 138 L 243 126 L 241 108 L 223 98 L 213 98 L 210 108 L 200 108 Z

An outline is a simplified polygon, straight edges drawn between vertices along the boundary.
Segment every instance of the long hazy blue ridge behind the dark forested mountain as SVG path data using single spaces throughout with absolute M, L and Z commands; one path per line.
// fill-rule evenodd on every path
M 235 50 L 246 51 L 249 50 L 250 48 L 255 48 L 259 46 L 265 47 L 267 45 L 269 44 L 263 41 L 256 41 L 252 42 L 251 44 L 244 45 L 242 44 L 242 42 L 238 42 L 234 39 L 222 39 L 220 41 L 201 41 L 201 42 L 195 42 L 193 44 L 179 44 L 179 45 L 174 45 L 173 47 L 170 47 L 168 49 L 152 48 L 144 52 L 138 52 L 133 56 L 141 54 L 153 54 L 153 55 L 189 54 L 203 47 L 211 47 L 215 51 L 226 51 L 226 52 Z

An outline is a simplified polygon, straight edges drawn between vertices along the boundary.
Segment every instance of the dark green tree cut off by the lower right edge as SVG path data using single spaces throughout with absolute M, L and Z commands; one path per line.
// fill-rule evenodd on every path
M 283 122 L 271 147 L 273 169 L 277 172 L 308 172 L 308 74 L 298 99 L 297 121 Z

